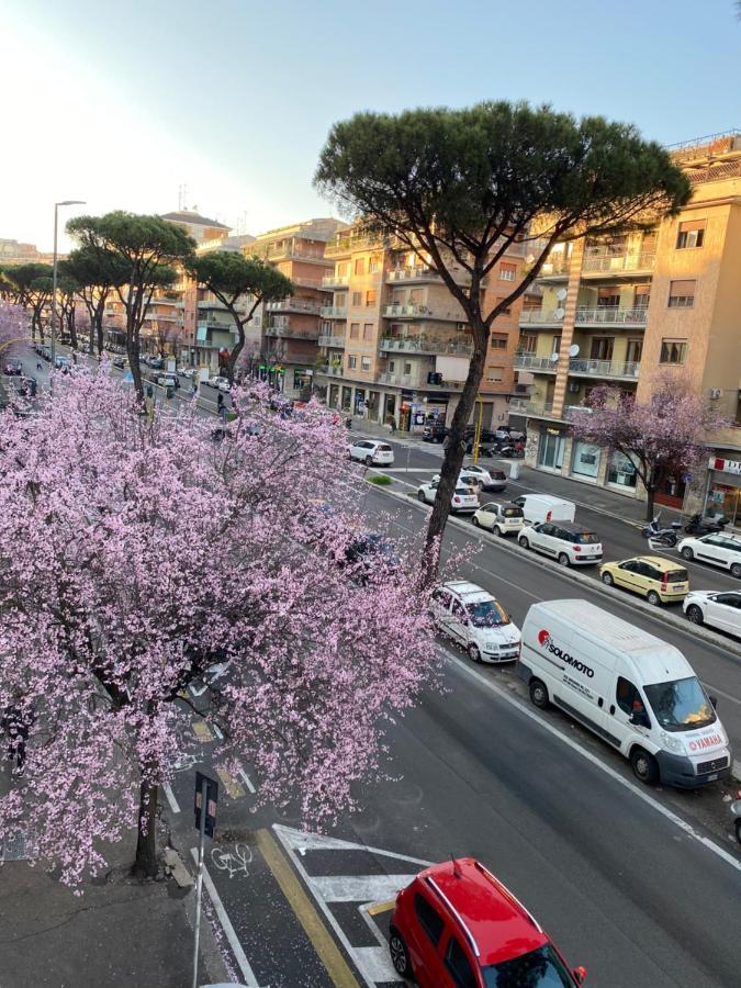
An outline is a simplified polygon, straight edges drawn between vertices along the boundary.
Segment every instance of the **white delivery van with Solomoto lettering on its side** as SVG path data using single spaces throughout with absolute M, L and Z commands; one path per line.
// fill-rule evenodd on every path
M 587 600 L 534 604 L 517 672 L 532 703 L 565 710 L 641 782 L 696 788 L 728 774 L 728 736 L 682 652 Z

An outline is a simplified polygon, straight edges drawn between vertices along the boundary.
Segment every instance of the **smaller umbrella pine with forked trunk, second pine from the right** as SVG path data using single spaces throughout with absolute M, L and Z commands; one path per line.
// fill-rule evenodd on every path
M 214 250 L 191 258 L 188 268 L 200 285 L 212 292 L 234 321 L 237 341 L 229 350 L 226 375 L 234 381 L 234 369 L 245 346 L 245 326 L 262 302 L 280 302 L 293 294 L 293 283 L 258 257 L 227 250 Z

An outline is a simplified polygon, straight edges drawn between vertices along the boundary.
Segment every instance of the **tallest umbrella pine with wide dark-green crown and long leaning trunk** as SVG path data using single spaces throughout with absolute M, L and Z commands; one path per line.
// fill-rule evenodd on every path
M 669 154 L 632 126 L 507 102 L 358 113 L 333 126 L 315 184 L 363 233 L 393 238 L 437 271 L 471 329 L 473 355 L 427 530 L 424 572 L 431 579 L 492 323 L 537 278 L 554 244 L 676 211 L 689 186 Z M 523 244 L 532 252 L 529 269 L 483 311 L 484 279 Z M 456 277 L 461 270 L 465 277 Z

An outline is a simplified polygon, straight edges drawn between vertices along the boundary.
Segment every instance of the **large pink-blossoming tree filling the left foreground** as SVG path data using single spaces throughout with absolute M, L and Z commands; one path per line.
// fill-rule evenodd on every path
M 281 418 L 235 390 L 214 442 L 194 408 L 150 422 L 104 373 L 54 392 L 0 414 L 0 709 L 30 725 L 0 840 L 30 833 L 76 883 L 136 832 L 135 871 L 155 874 L 158 789 L 202 757 L 193 718 L 218 727 L 216 765 L 254 766 L 263 802 L 307 822 L 351 807 L 436 663 L 415 582 L 347 562 L 360 482 L 333 416 Z M 296 512 L 287 476 L 336 509 Z

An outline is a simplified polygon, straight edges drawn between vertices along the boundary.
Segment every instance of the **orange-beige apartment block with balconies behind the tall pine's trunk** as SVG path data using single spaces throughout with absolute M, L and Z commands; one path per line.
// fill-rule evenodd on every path
M 408 247 L 343 231 L 329 243 L 334 271 L 325 277 L 332 303 L 322 310 L 324 355 L 315 381 L 327 404 L 372 422 L 392 418 L 420 430 L 430 417 L 450 422 L 468 374 L 472 337 L 465 315 L 442 279 Z M 484 312 L 521 277 L 516 246 L 483 289 Z M 467 272 L 452 269 L 462 284 Z M 492 327 L 479 411 L 485 427 L 504 422 L 514 386 L 513 358 L 521 303 Z

